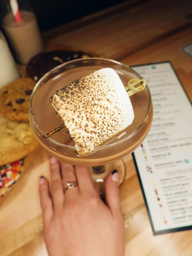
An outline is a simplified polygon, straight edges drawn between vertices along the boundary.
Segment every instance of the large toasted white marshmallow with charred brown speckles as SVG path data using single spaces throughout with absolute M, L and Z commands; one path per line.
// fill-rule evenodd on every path
M 56 91 L 50 102 L 68 128 L 80 155 L 90 153 L 134 119 L 131 100 L 112 68 L 100 69 L 71 82 Z

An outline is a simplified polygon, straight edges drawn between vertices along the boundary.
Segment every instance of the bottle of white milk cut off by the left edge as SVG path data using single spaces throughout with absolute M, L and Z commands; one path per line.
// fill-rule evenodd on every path
M 13 80 L 19 79 L 19 77 L 16 63 L 0 31 L 0 88 Z

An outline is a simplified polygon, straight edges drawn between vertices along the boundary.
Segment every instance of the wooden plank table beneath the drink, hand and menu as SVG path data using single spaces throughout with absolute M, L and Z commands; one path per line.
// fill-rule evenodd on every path
M 43 34 L 57 42 L 127 65 L 170 60 L 192 100 L 192 58 L 180 48 L 192 42 L 191 0 L 128 1 Z M 38 178 L 49 178 L 41 149 L 0 206 L 0 256 L 47 256 L 42 235 Z M 120 188 L 125 256 L 191 256 L 192 231 L 153 236 L 132 155 Z

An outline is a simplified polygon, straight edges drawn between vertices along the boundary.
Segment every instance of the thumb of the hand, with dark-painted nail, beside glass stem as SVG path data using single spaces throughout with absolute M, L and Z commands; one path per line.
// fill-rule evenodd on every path
M 114 216 L 121 213 L 119 188 L 118 188 L 118 172 L 114 170 L 105 182 L 105 199 L 108 207 Z

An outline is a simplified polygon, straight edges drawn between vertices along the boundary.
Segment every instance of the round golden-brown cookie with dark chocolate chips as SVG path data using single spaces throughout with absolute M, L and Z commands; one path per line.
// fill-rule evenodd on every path
M 36 83 L 17 79 L 0 89 L 0 114 L 10 120 L 29 120 L 29 100 Z

